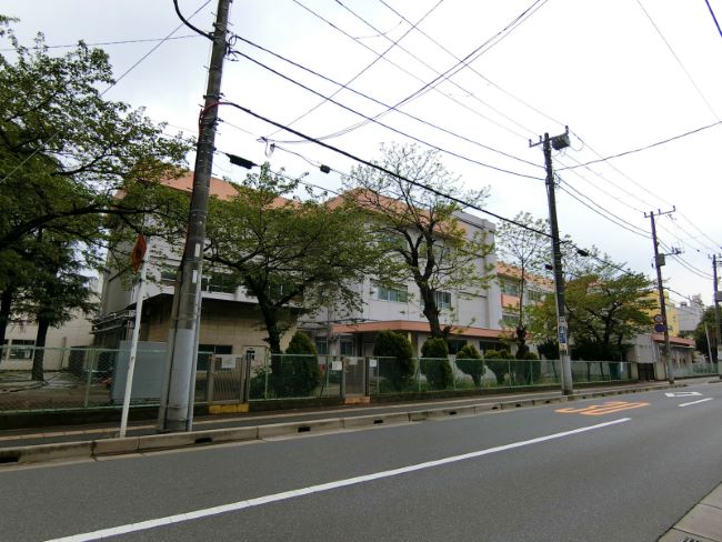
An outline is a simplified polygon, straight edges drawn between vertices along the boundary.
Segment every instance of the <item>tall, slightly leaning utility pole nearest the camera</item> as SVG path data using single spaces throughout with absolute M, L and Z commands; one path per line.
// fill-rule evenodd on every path
M 168 334 L 166 373 L 158 416 L 158 431 L 161 432 L 190 431 L 192 428 L 205 218 L 230 3 L 231 0 L 218 1 L 205 102 L 199 122 L 188 233 L 176 281 L 171 329 Z

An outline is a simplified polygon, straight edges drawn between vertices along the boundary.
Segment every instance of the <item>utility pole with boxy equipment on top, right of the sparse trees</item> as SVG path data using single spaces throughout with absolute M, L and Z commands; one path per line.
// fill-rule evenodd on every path
M 549 222 L 552 230 L 552 254 L 554 269 L 554 289 L 556 291 L 556 331 L 559 337 L 559 361 L 561 364 L 562 393 L 571 395 L 574 392 L 572 382 L 572 363 L 569 355 L 569 328 L 566 327 L 566 310 L 564 308 L 564 275 L 562 273 L 562 251 L 559 241 L 559 227 L 556 225 L 556 199 L 554 197 L 554 170 L 552 169 L 552 147 L 560 150 L 569 147 L 569 127 L 561 136 L 553 138 L 544 133 L 539 143 L 529 147 L 542 145 L 544 164 L 546 167 L 546 197 L 549 198 Z

